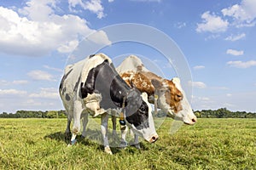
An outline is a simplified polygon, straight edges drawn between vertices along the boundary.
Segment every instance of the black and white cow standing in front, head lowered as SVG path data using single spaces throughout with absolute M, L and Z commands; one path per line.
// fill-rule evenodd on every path
M 108 144 L 108 115 L 113 112 L 117 115 L 124 112 L 126 124 L 149 143 L 158 139 L 147 95 L 130 88 L 105 54 L 90 55 L 78 63 L 67 65 L 59 91 L 67 111 L 66 133 L 70 133 L 73 118 L 72 144 L 80 131 L 82 114 L 83 136 L 88 114 L 101 116 L 105 151 L 112 154 Z

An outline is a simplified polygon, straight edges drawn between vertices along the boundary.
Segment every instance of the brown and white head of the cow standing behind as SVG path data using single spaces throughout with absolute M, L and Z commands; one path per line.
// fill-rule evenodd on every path
M 195 124 L 196 116 L 183 92 L 179 78 L 165 79 L 163 82 L 152 80 L 152 83 L 155 88 L 154 93 L 158 95 L 157 105 L 161 110 L 186 124 Z

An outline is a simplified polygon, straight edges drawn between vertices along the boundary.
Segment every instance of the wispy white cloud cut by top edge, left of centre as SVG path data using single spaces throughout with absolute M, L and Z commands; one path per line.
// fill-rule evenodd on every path
M 108 1 L 108 2 L 113 2 Z M 84 10 L 90 10 L 90 12 L 97 14 L 97 18 L 102 19 L 106 14 L 103 13 L 104 8 L 102 7 L 101 0 L 90 0 L 85 3 L 82 0 L 68 0 L 69 9 L 73 11 L 73 8 L 80 5 Z

